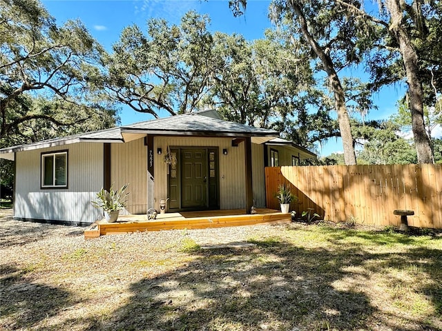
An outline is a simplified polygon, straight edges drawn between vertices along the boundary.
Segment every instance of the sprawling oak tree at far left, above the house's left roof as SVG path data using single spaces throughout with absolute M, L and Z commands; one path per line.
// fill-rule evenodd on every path
M 0 0 L 0 148 L 115 126 L 91 95 L 102 48 L 79 21 L 57 26 L 35 0 Z M 0 160 L 0 183 L 13 162 Z

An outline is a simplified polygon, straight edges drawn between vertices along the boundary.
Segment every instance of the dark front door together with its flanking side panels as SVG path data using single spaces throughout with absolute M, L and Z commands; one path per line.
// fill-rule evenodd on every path
M 219 209 L 218 148 L 171 148 L 169 209 Z

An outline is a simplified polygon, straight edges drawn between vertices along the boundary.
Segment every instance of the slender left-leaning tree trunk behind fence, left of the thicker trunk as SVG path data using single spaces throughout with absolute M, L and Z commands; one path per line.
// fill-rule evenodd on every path
M 296 13 L 296 16 L 298 17 L 302 35 L 309 43 L 312 50 L 314 50 L 316 55 L 322 61 L 324 70 L 325 72 L 327 72 L 327 75 L 329 77 L 329 82 L 334 92 L 334 104 L 336 112 L 338 113 L 340 137 L 343 139 L 344 161 L 346 165 L 354 165 L 356 164 L 356 154 L 354 152 L 350 120 L 347 112 L 347 107 L 345 106 L 345 93 L 342 85 L 340 84 L 338 74 L 334 69 L 333 61 L 327 54 L 325 54 L 324 50 L 319 46 L 314 37 L 310 34 L 304 13 L 302 12 L 296 0 L 291 0 L 290 3 L 292 8 L 294 9 L 294 12 Z

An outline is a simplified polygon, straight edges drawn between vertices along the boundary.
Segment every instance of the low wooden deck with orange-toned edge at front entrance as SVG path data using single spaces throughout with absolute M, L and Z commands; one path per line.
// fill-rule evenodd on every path
M 92 239 L 106 234 L 142 231 L 223 228 L 290 221 L 290 214 L 282 214 L 278 210 L 258 208 L 256 212 L 256 214 L 245 214 L 244 210 L 173 212 L 158 214 L 157 219 L 150 221 L 145 214 L 125 215 L 120 216 L 115 223 L 108 223 L 104 220 L 93 223 L 84 231 L 84 238 Z

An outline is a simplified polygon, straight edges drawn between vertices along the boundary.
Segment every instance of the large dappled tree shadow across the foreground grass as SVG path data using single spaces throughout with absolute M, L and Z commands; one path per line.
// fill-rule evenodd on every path
M 89 321 L 90 330 L 441 330 L 425 317 L 380 312 L 361 281 L 352 283 L 354 271 L 345 271 L 363 267 L 358 277 L 368 282 L 369 272 L 422 261 L 421 268 L 438 281 L 439 250 L 416 249 L 399 258 L 355 247 L 256 243 L 243 250 L 204 250 L 183 268 L 133 283 L 131 300 L 111 319 Z M 336 286 L 343 281 L 344 288 Z M 421 290 L 440 308 L 440 285 Z

